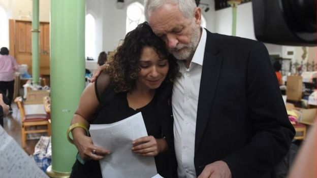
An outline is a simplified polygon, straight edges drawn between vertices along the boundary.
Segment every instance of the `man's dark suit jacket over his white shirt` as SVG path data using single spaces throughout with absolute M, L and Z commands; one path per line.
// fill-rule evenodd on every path
M 207 31 L 196 123 L 197 176 L 205 165 L 223 160 L 232 177 L 270 177 L 294 134 L 265 46 Z

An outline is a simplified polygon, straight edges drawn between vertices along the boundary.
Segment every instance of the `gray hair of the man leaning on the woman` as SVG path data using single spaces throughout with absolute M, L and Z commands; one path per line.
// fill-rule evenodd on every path
M 160 8 L 164 4 L 178 5 L 179 11 L 185 18 L 194 17 L 194 10 L 197 7 L 195 0 L 144 0 L 145 19 L 148 21 L 152 11 Z

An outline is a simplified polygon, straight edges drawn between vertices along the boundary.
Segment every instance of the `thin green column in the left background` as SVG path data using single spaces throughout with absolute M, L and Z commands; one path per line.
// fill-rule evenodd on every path
M 40 84 L 40 61 L 39 61 L 39 0 L 33 0 L 32 15 L 32 78 L 33 84 Z

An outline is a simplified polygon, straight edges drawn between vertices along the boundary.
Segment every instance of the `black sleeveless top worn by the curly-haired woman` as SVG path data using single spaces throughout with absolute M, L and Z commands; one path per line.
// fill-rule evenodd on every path
M 157 173 L 163 177 L 177 177 L 172 110 L 169 102 L 172 84 L 162 84 L 155 90 L 153 99 L 137 110 L 129 107 L 126 92 L 115 93 L 111 85 L 99 92 L 97 88 L 100 87 L 97 87 L 97 84 L 95 86 L 101 107 L 90 124 L 110 124 L 141 112 L 148 135 L 155 138 L 165 137 L 168 143 L 169 150 L 154 157 Z M 76 160 L 70 177 L 102 177 L 99 161 L 87 160 L 83 165 Z

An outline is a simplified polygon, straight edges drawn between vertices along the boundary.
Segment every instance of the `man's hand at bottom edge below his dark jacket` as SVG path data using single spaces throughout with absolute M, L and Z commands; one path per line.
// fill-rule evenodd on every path
M 231 171 L 224 161 L 207 164 L 198 178 L 231 178 Z

